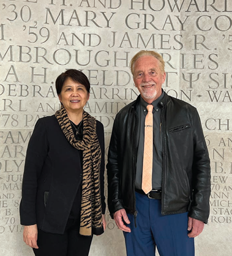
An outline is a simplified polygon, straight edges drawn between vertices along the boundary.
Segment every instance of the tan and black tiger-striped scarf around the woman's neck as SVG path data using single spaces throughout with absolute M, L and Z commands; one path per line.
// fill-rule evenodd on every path
M 69 117 L 62 104 L 55 116 L 69 143 L 83 151 L 80 235 L 100 235 L 103 233 L 100 197 L 101 150 L 96 132 L 96 119 L 83 111 L 83 140 L 75 140 Z

